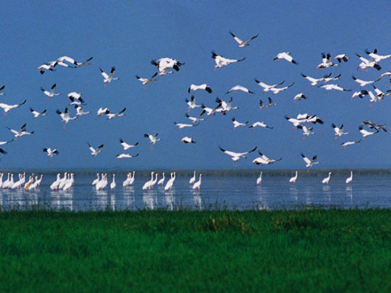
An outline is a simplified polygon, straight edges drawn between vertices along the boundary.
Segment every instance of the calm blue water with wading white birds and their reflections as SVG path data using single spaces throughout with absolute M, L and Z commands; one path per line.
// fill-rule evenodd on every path
M 97 192 L 91 185 L 95 177 L 79 175 L 75 176 L 75 186 L 70 192 L 53 192 L 49 186 L 55 176 L 47 175 L 43 177 L 41 188 L 33 192 L 0 189 L 0 205 L 2 209 L 45 206 L 73 211 L 176 209 L 179 206 L 191 209 L 296 209 L 309 205 L 347 209 L 391 207 L 389 176 L 354 176 L 350 186 L 345 184 L 346 177 L 338 176 L 331 177 L 328 186 L 321 184 L 321 177 L 299 177 L 292 185 L 289 177 L 264 176 L 260 187 L 255 183 L 257 177 L 203 177 L 200 193 L 191 189 L 190 177 L 177 177 L 171 192 L 156 186 L 146 192 L 141 187 L 150 177 L 137 175 L 133 187 L 123 188 L 125 178 L 117 177 L 114 191 Z

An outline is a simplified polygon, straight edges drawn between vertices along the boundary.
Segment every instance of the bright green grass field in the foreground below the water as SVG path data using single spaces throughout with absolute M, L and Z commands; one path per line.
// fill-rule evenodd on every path
M 10 211 L 0 292 L 390 292 L 391 210 Z

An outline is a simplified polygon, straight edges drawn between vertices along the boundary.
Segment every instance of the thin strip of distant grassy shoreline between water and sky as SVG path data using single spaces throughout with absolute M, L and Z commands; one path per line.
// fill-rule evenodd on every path
M 274 176 L 293 176 L 295 171 L 298 171 L 300 177 L 319 177 L 327 174 L 328 172 L 332 172 L 333 175 L 336 176 L 348 176 L 350 175 L 350 171 L 353 171 L 353 176 L 378 176 L 378 175 L 390 175 L 391 176 L 391 169 L 314 169 L 309 170 L 307 172 L 306 170 L 300 170 L 300 169 L 284 169 L 284 170 L 253 170 L 253 169 L 238 169 L 238 170 L 195 170 L 197 174 L 202 173 L 203 176 L 207 177 L 254 177 L 259 176 L 259 172 L 262 171 L 263 176 L 267 177 L 274 177 Z M 138 176 L 150 176 L 151 170 L 117 170 L 117 169 L 99 169 L 99 170 L 93 170 L 93 169 L 3 169 L 0 170 L 0 172 L 3 173 L 18 173 L 18 172 L 26 172 L 26 173 L 36 173 L 36 174 L 43 174 L 43 175 L 55 175 L 57 173 L 63 173 L 63 172 L 73 172 L 75 175 L 96 175 L 97 172 L 107 172 L 107 173 L 115 173 L 117 175 L 127 175 L 128 172 L 136 172 L 136 175 Z M 156 169 L 154 172 L 165 172 L 166 174 L 169 174 L 170 172 L 176 172 L 177 177 L 181 176 L 192 176 L 194 170 L 162 170 L 162 169 Z

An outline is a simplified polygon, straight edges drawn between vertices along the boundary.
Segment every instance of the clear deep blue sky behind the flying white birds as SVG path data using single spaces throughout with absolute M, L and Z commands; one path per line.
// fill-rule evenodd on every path
M 390 123 L 390 97 L 368 108 L 369 98 L 350 101 L 350 92 L 328 92 L 312 89 L 301 72 L 321 77 L 328 72 L 341 73 L 336 83 L 360 89 L 351 74 L 365 80 L 377 78 L 390 70 L 391 59 L 380 62 L 382 70 L 358 72 L 360 60 L 355 52 L 377 48 L 382 55 L 391 53 L 388 13 L 389 1 L 28 1 L 23 5 L 7 1 L 2 6 L 1 84 L 5 96 L 1 101 L 26 105 L 0 117 L 0 140 L 12 138 L 6 126 L 19 128 L 27 123 L 33 136 L 5 145 L 9 153 L 1 155 L 4 168 L 121 168 L 121 169 L 230 169 L 230 157 L 218 146 L 242 152 L 254 148 L 281 162 L 264 167 L 303 169 L 300 153 L 318 155 L 317 168 L 390 167 L 390 136 L 380 133 L 363 143 L 344 150 L 341 143 L 358 140 L 358 125 L 365 119 Z M 250 46 L 238 48 L 230 31 L 247 40 Z M 228 58 L 246 57 L 237 64 L 213 72 L 215 62 L 210 51 Z M 278 52 L 289 51 L 299 65 L 273 61 Z M 321 52 L 346 53 L 350 60 L 331 70 L 314 70 L 321 62 Z M 93 56 L 92 65 L 70 69 L 56 67 L 55 72 L 41 75 L 36 67 L 43 62 L 68 55 L 77 61 Z M 172 57 L 186 62 L 179 72 L 168 74 L 142 89 L 134 76 L 149 77 L 156 72 L 152 59 Z M 117 69 L 118 81 L 103 88 L 101 67 Z M 260 110 L 259 99 L 267 101 L 254 78 L 269 84 L 285 80 L 294 87 L 272 96 L 277 106 Z M 187 123 L 185 99 L 190 84 L 208 83 L 212 94 L 195 92 L 197 102 L 213 107 L 215 98 L 234 99 L 234 110 L 226 116 L 216 115 L 199 126 L 180 131 L 173 121 Z M 40 87 L 56 83 L 55 96 L 46 101 Z M 255 94 L 225 95 L 240 84 Z M 377 82 L 383 91 L 390 89 L 387 78 Z M 368 87 L 368 89 L 371 89 Z M 87 102 L 85 111 L 92 113 L 70 121 L 65 131 L 55 109 L 63 111 L 69 103 L 66 94 L 80 92 Z M 308 100 L 292 104 L 294 95 L 304 92 Z M 112 111 L 127 107 L 126 116 L 107 121 L 95 120 L 100 106 Z M 33 119 L 30 107 L 48 109 L 45 117 Z M 317 114 L 325 123 L 314 126 L 315 136 L 301 141 L 301 131 L 291 130 L 284 115 Z M 198 109 L 192 110 L 196 116 Z M 75 109 L 70 109 L 75 114 Z M 237 128 L 238 121 L 265 121 L 272 130 Z M 343 123 L 349 136 L 333 140 L 331 123 Z M 151 151 L 144 133 L 159 133 L 161 141 Z M 195 145 L 183 145 L 181 138 L 192 136 Z M 134 159 L 117 160 L 121 153 L 119 138 L 139 142 L 130 153 Z M 87 143 L 105 144 L 102 153 L 92 160 Z M 42 148 L 58 148 L 60 155 L 48 159 Z M 237 168 L 259 168 L 252 164 L 257 153 L 241 159 Z

